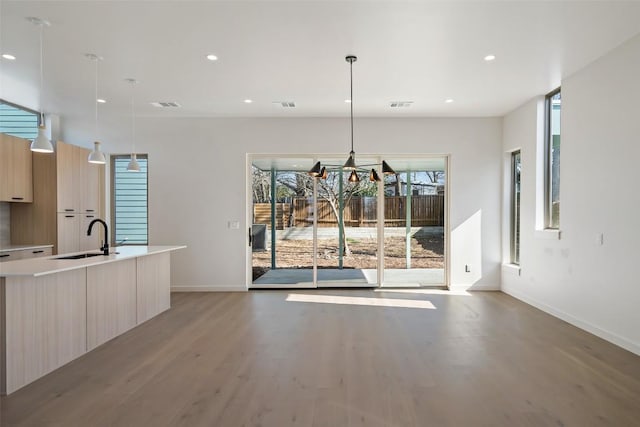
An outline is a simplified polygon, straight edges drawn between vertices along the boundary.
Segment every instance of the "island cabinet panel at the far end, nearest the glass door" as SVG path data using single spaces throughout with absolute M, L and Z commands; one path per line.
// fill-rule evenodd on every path
M 137 258 L 139 324 L 171 307 L 169 262 L 168 252 Z

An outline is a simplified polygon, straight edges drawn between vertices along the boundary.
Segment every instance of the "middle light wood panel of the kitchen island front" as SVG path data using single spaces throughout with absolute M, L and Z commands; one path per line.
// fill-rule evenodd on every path
M 136 326 L 136 260 L 87 267 L 87 351 Z

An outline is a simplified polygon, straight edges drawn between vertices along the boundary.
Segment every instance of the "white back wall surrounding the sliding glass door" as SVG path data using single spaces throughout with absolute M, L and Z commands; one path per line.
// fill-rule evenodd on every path
M 86 125 L 63 123 L 65 140 L 82 140 Z M 137 150 L 149 153 L 150 243 L 188 246 L 172 255 L 176 287 L 246 288 L 247 153 L 346 155 L 349 147 L 347 119 L 141 118 L 136 128 Z M 453 285 L 499 289 L 501 141 L 499 118 L 356 119 L 360 155 L 451 155 Z M 129 150 L 109 135 L 103 146 Z M 228 229 L 230 220 L 240 230 Z

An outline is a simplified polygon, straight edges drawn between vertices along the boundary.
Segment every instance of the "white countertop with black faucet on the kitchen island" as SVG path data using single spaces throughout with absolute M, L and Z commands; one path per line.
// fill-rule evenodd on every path
M 111 249 L 108 256 L 100 255 L 80 259 L 56 259 L 81 253 L 99 253 L 100 251 L 75 252 L 73 254 L 59 254 L 51 257 L 30 258 L 0 263 L 0 277 L 9 276 L 44 276 L 62 271 L 91 267 L 92 265 L 122 261 L 128 258 L 159 254 L 162 252 L 184 249 L 186 246 L 118 246 Z

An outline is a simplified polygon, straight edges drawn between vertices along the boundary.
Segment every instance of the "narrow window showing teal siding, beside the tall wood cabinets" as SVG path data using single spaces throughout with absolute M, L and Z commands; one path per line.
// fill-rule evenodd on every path
M 148 239 L 147 155 L 138 154 L 140 172 L 127 171 L 131 157 L 111 156 L 113 243 L 146 245 Z

